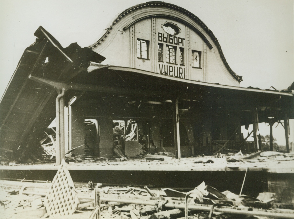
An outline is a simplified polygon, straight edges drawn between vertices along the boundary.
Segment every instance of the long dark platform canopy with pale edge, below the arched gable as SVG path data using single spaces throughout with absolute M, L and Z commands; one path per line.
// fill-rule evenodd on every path
M 283 120 L 285 111 L 289 113 L 290 118 L 294 118 L 294 112 L 291 110 L 294 108 L 291 90 L 274 91 L 226 86 L 95 63 L 89 66 L 88 71 L 87 75 L 77 76 L 72 82 L 103 85 L 105 93 L 117 95 L 157 97 L 163 101 L 180 97 L 182 100 L 188 100 L 191 106 L 219 109 L 228 113 L 244 113 L 244 118 L 246 114 L 258 108 L 262 112 L 259 114 L 259 122 L 268 122 L 268 117 L 275 117 L 277 121 Z M 113 86 L 116 90 L 111 88 Z M 243 125 L 245 124 L 244 121 Z

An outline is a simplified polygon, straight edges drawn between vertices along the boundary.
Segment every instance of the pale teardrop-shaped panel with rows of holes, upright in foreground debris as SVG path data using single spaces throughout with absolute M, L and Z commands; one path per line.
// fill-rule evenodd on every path
M 78 207 L 78 195 L 74 188 L 66 163 L 62 160 L 50 190 L 45 197 L 45 207 L 49 215 L 73 214 Z

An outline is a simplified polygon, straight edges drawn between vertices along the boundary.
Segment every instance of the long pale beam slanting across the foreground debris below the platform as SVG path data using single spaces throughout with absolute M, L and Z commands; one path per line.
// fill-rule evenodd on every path
M 41 195 L 45 196 L 51 183 L 31 183 L 31 182 L 15 182 L 8 180 L 0 180 L 0 186 L 11 186 L 12 188 L 20 189 L 20 193 L 27 195 Z M 80 203 L 94 201 L 92 192 L 78 192 L 78 199 Z M 147 197 L 143 195 L 116 195 L 116 194 L 104 194 L 100 193 L 101 202 L 116 202 L 126 204 L 138 204 L 138 205 L 151 205 L 157 206 L 162 200 L 166 201 L 164 205 L 166 208 L 178 208 L 185 209 L 184 198 L 171 198 L 171 197 Z M 188 203 L 188 210 L 206 211 L 211 212 L 213 205 L 196 204 L 193 202 Z M 249 208 L 236 209 L 230 207 L 214 207 L 213 212 L 238 214 L 238 215 L 251 215 L 251 216 L 267 216 L 271 218 L 293 218 L 292 213 L 278 213 L 274 210 L 248 210 Z

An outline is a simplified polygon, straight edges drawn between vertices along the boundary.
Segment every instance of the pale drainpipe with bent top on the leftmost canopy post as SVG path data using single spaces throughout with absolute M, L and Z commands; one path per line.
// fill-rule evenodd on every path
M 56 97 L 56 165 L 60 165 L 64 159 L 64 92 L 62 88 L 61 93 Z

